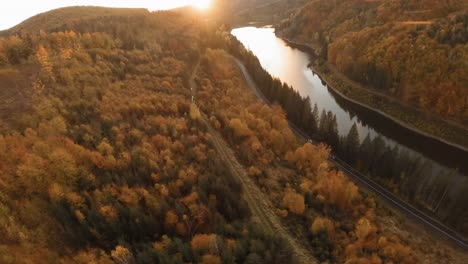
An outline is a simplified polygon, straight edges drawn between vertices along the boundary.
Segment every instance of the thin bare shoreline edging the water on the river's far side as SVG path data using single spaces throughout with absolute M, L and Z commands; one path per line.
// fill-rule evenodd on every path
M 300 49 L 302 51 L 305 51 L 307 52 L 309 55 L 313 56 L 313 57 L 318 57 L 318 55 L 315 53 L 315 50 L 312 46 L 310 45 L 307 45 L 307 44 L 304 44 L 304 43 L 298 43 L 298 42 L 295 42 L 295 41 L 292 41 L 292 40 L 289 40 L 285 37 L 282 37 L 278 34 L 276 34 L 275 32 L 275 35 L 277 37 L 279 37 L 280 39 L 282 39 L 284 42 L 286 42 L 288 45 L 292 46 L 293 48 L 297 48 L 297 49 Z M 312 62 L 311 62 L 312 63 Z M 464 151 L 464 152 L 467 152 L 468 153 L 468 147 L 464 146 L 464 145 L 461 145 L 461 144 L 458 144 L 458 143 L 455 143 L 455 142 L 451 142 L 449 141 L 448 139 L 445 139 L 445 138 L 442 138 L 440 136 L 437 136 L 437 135 L 433 135 L 433 134 L 430 134 L 429 132 L 426 132 L 426 131 L 423 131 L 421 130 L 420 128 L 417 128 L 415 126 L 412 126 L 410 124 L 408 124 L 407 122 L 405 121 L 402 121 L 394 116 L 392 116 L 391 114 L 388 114 L 380 109 L 376 109 L 366 103 L 363 103 L 363 102 L 360 102 L 356 99 L 353 99 L 345 94 L 343 94 L 342 91 L 340 91 L 339 89 L 337 89 L 336 87 L 334 87 L 333 85 L 330 85 L 330 80 L 327 78 L 327 76 L 325 76 L 325 74 L 323 74 L 322 72 L 318 71 L 317 69 L 315 68 L 312 68 L 312 67 L 309 67 L 309 69 L 316 75 L 319 76 L 319 78 L 327 85 L 328 88 L 330 88 L 333 92 L 335 92 L 338 96 L 340 96 L 341 98 L 343 98 L 344 100 L 348 101 L 349 103 L 352 103 L 352 104 L 355 104 L 355 105 L 358 105 L 360 107 L 363 107 L 363 108 L 366 108 L 367 110 L 369 111 L 372 111 L 372 112 L 375 112 L 393 122 L 395 122 L 396 124 L 398 124 L 399 126 L 403 127 L 403 128 L 406 128 L 408 130 L 411 130 L 421 136 L 424 136 L 426 138 L 430 138 L 432 140 L 436 140 L 436 141 L 439 141 L 440 143 L 443 143 L 443 144 L 446 144 L 446 145 L 449 145 L 451 147 L 454 147 L 454 148 L 457 148 L 461 151 Z M 363 88 L 364 89 L 364 88 Z M 373 94 L 373 96 L 377 96 L 377 97 L 383 97 L 383 96 L 380 96 L 378 94 Z

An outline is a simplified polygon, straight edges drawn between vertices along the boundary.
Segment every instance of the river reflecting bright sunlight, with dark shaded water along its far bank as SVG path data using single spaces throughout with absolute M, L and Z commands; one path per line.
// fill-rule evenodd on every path
M 380 135 L 388 145 L 431 164 L 421 185 L 445 182 L 454 196 L 460 195 L 460 186 L 468 185 L 468 153 L 412 132 L 339 97 L 308 67 L 310 56 L 276 37 L 273 28 L 242 27 L 232 30 L 231 34 L 258 57 L 272 76 L 291 85 L 303 97 L 309 96 L 312 106 L 317 104 L 320 112 L 322 109 L 332 111 L 337 117 L 340 135 L 347 135 L 356 123 L 361 141 L 367 134 L 371 138 Z

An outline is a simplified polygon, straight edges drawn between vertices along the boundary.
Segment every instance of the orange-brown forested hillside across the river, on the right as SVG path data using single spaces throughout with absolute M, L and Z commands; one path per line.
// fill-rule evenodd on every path
M 468 124 L 465 0 L 312 1 L 278 27 L 348 78 Z

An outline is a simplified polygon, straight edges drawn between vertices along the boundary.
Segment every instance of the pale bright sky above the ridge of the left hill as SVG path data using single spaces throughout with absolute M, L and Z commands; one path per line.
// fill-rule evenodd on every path
M 0 30 L 8 29 L 38 13 L 65 6 L 96 5 L 108 7 L 145 7 L 171 9 L 200 0 L 3 0 L 0 3 Z M 204 0 L 201 0 L 202 2 Z M 205 0 L 206 1 L 206 0 Z

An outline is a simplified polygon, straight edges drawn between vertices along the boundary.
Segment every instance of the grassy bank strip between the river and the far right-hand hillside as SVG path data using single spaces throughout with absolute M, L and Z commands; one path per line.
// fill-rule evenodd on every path
M 286 39 L 279 34 L 277 36 L 291 47 L 307 52 L 312 58 L 319 58 L 316 47 Z M 315 61 L 311 62 L 311 64 L 313 66 L 313 68 L 310 67 L 311 70 L 327 84 L 328 88 L 348 102 L 376 112 L 424 137 L 468 152 L 468 130 L 461 125 L 429 116 L 429 114 L 403 104 L 395 98 L 362 87 L 342 76 L 342 74 L 337 74 L 336 70 L 327 62 L 317 63 Z

